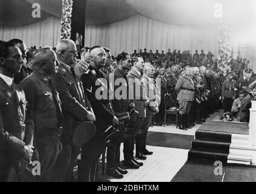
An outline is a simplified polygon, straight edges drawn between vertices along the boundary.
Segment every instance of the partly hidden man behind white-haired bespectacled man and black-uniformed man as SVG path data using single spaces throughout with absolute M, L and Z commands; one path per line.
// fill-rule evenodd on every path
M 90 64 L 90 48 L 84 47 L 81 49 L 81 60 L 78 62 L 78 64 L 75 65 L 75 74 L 81 78 L 81 75 L 83 75 Z

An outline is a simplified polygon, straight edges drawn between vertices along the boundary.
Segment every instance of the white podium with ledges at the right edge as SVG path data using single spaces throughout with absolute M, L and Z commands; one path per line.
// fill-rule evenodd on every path
M 232 134 L 228 163 L 256 166 L 256 101 L 250 109 L 249 135 Z

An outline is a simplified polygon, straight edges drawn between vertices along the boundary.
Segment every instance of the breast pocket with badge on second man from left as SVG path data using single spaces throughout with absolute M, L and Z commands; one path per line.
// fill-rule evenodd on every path
M 45 110 L 47 109 L 47 107 L 54 105 L 52 92 L 42 91 L 42 92 L 39 92 L 38 95 L 39 95 L 39 98 L 38 98 L 38 103 L 36 105 L 37 109 Z

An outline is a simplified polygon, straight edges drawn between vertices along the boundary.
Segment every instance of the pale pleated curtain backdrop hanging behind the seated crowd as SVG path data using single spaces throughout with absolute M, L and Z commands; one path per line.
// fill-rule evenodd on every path
M 251 60 L 251 68 L 256 70 L 255 42 L 251 41 L 251 24 L 243 22 L 243 27 L 234 27 L 234 52 L 238 48 L 243 51 L 244 58 Z M 248 26 L 248 27 L 246 27 Z M 112 50 L 113 55 L 126 51 L 132 53 L 138 49 L 156 49 L 161 52 L 167 49 L 195 50 L 203 49 L 205 53 L 211 50 L 214 55 L 218 53 L 218 29 L 215 27 L 195 27 L 183 25 L 171 25 L 141 15 L 132 16 L 122 21 L 107 25 L 86 25 L 84 36 L 85 45 L 103 45 Z M 61 35 L 60 19 L 50 16 L 37 24 L 26 27 L 7 27 L 0 25 L 0 39 L 8 41 L 12 38 L 24 40 L 28 47 L 53 46 L 59 41 Z M 241 40 L 243 44 L 239 43 Z

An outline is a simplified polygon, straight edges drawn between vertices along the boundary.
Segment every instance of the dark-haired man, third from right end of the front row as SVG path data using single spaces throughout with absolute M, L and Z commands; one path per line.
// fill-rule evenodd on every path
M 116 61 L 117 68 L 112 74 L 110 74 L 113 76 L 113 80 L 110 79 L 109 83 L 114 85 L 112 91 L 113 99 L 111 101 L 112 108 L 115 113 L 130 112 L 130 105 L 132 105 L 132 103 L 129 103 L 128 81 L 126 78 L 126 70 L 129 70 L 131 65 L 130 55 L 124 52 L 120 53 L 116 57 Z M 113 83 L 111 81 L 113 81 Z M 120 87 L 124 88 L 126 93 L 123 93 L 123 90 L 120 93 L 116 93 L 116 90 L 120 89 Z M 121 99 L 119 95 L 121 96 Z M 120 122 L 121 139 L 120 141 L 116 141 L 118 139 L 111 139 L 109 147 L 107 148 L 107 175 L 114 175 L 118 178 L 121 178 L 123 175 L 127 174 L 127 170 L 120 168 L 120 146 L 124 139 L 124 130 L 126 129 L 126 124 L 127 122 Z M 111 152 L 113 151 L 115 151 L 115 163 L 113 162 L 113 157 L 111 155 Z M 113 174 L 113 168 L 115 168 L 118 173 L 122 174 L 122 176 Z

